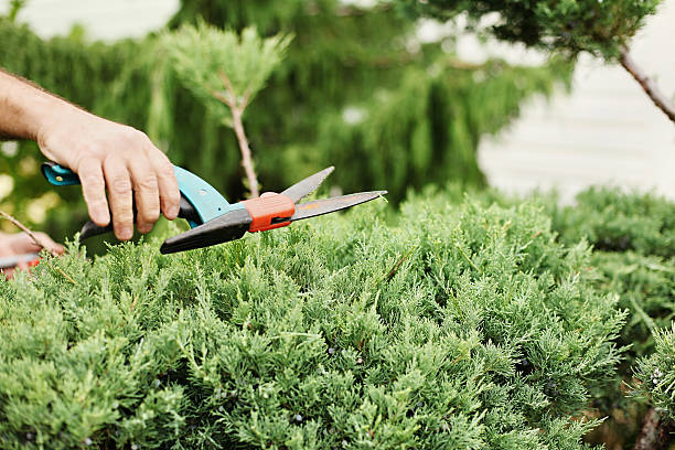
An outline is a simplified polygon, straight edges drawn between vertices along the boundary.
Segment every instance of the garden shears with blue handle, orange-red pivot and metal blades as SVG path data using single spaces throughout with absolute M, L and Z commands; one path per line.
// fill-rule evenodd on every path
M 281 193 L 267 192 L 261 196 L 237 203 L 228 203 L 218 191 L 194 173 L 174 165 L 175 178 L 181 191 L 179 217 L 190 224 L 191 229 L 164 240 L 160 253 L 172 254 L 210 247 L 239 239 L 246 232 L 266 232 L 290 225 L 291 222 L 334 213 L 369 202 L 387 191 L 360 192 L 331 199 L 298 203 L 314 192 L 333 167 L 314 173 L 293 184 Z M 79 178 L 69 169 L 54 162 L 42 164 L 42 173 L 57 186 L 79 184 Z M 79 233 L 79 239 L 113 231 L 113 221 L 106 227 L 87 222 Z

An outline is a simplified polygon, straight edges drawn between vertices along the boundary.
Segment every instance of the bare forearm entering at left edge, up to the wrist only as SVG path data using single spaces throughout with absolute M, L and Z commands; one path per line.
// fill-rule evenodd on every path
M 0 69 L 0 137 L 36 140 L 40 129 L 75 106 Z

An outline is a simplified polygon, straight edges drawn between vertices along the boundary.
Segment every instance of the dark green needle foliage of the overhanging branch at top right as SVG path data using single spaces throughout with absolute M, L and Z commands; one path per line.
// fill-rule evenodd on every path
M 496 38 L 575 56 L 586 51 L 615 58 L 661 0 L 395 0 L 414 15 L 442 20 L 467 12 L 475 23 L 491 15 Z

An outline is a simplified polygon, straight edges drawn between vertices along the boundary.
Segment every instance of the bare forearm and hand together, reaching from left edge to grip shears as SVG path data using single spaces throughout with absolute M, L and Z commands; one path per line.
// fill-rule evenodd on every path
M 2 71 L 0 135 L 34 140 L 47 159 L 77 173 L 92 221 L 106 226 L 113 212 L 118 239 L 133 235 L 133 199 L 140 233 L 152 229 L 160 210 L 169 219 L 178 216 L 173 165 L 143 132 L 94 116 Z

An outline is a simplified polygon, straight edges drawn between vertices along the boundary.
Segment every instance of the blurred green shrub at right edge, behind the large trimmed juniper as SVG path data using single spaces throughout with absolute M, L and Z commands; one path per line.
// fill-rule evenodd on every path
M 593 246 L 597 286 L 620 297 L 630 311 L 621 342 L 631 345 L 623 376 L 632 376 L 638 355 L 654 350 L 652 333 L 669 326 L 675 313 L 675 204 L 655 194 L 591 188 L 574 206 L 543 202 L 553 228 L 566 245 L 582 239 Z

